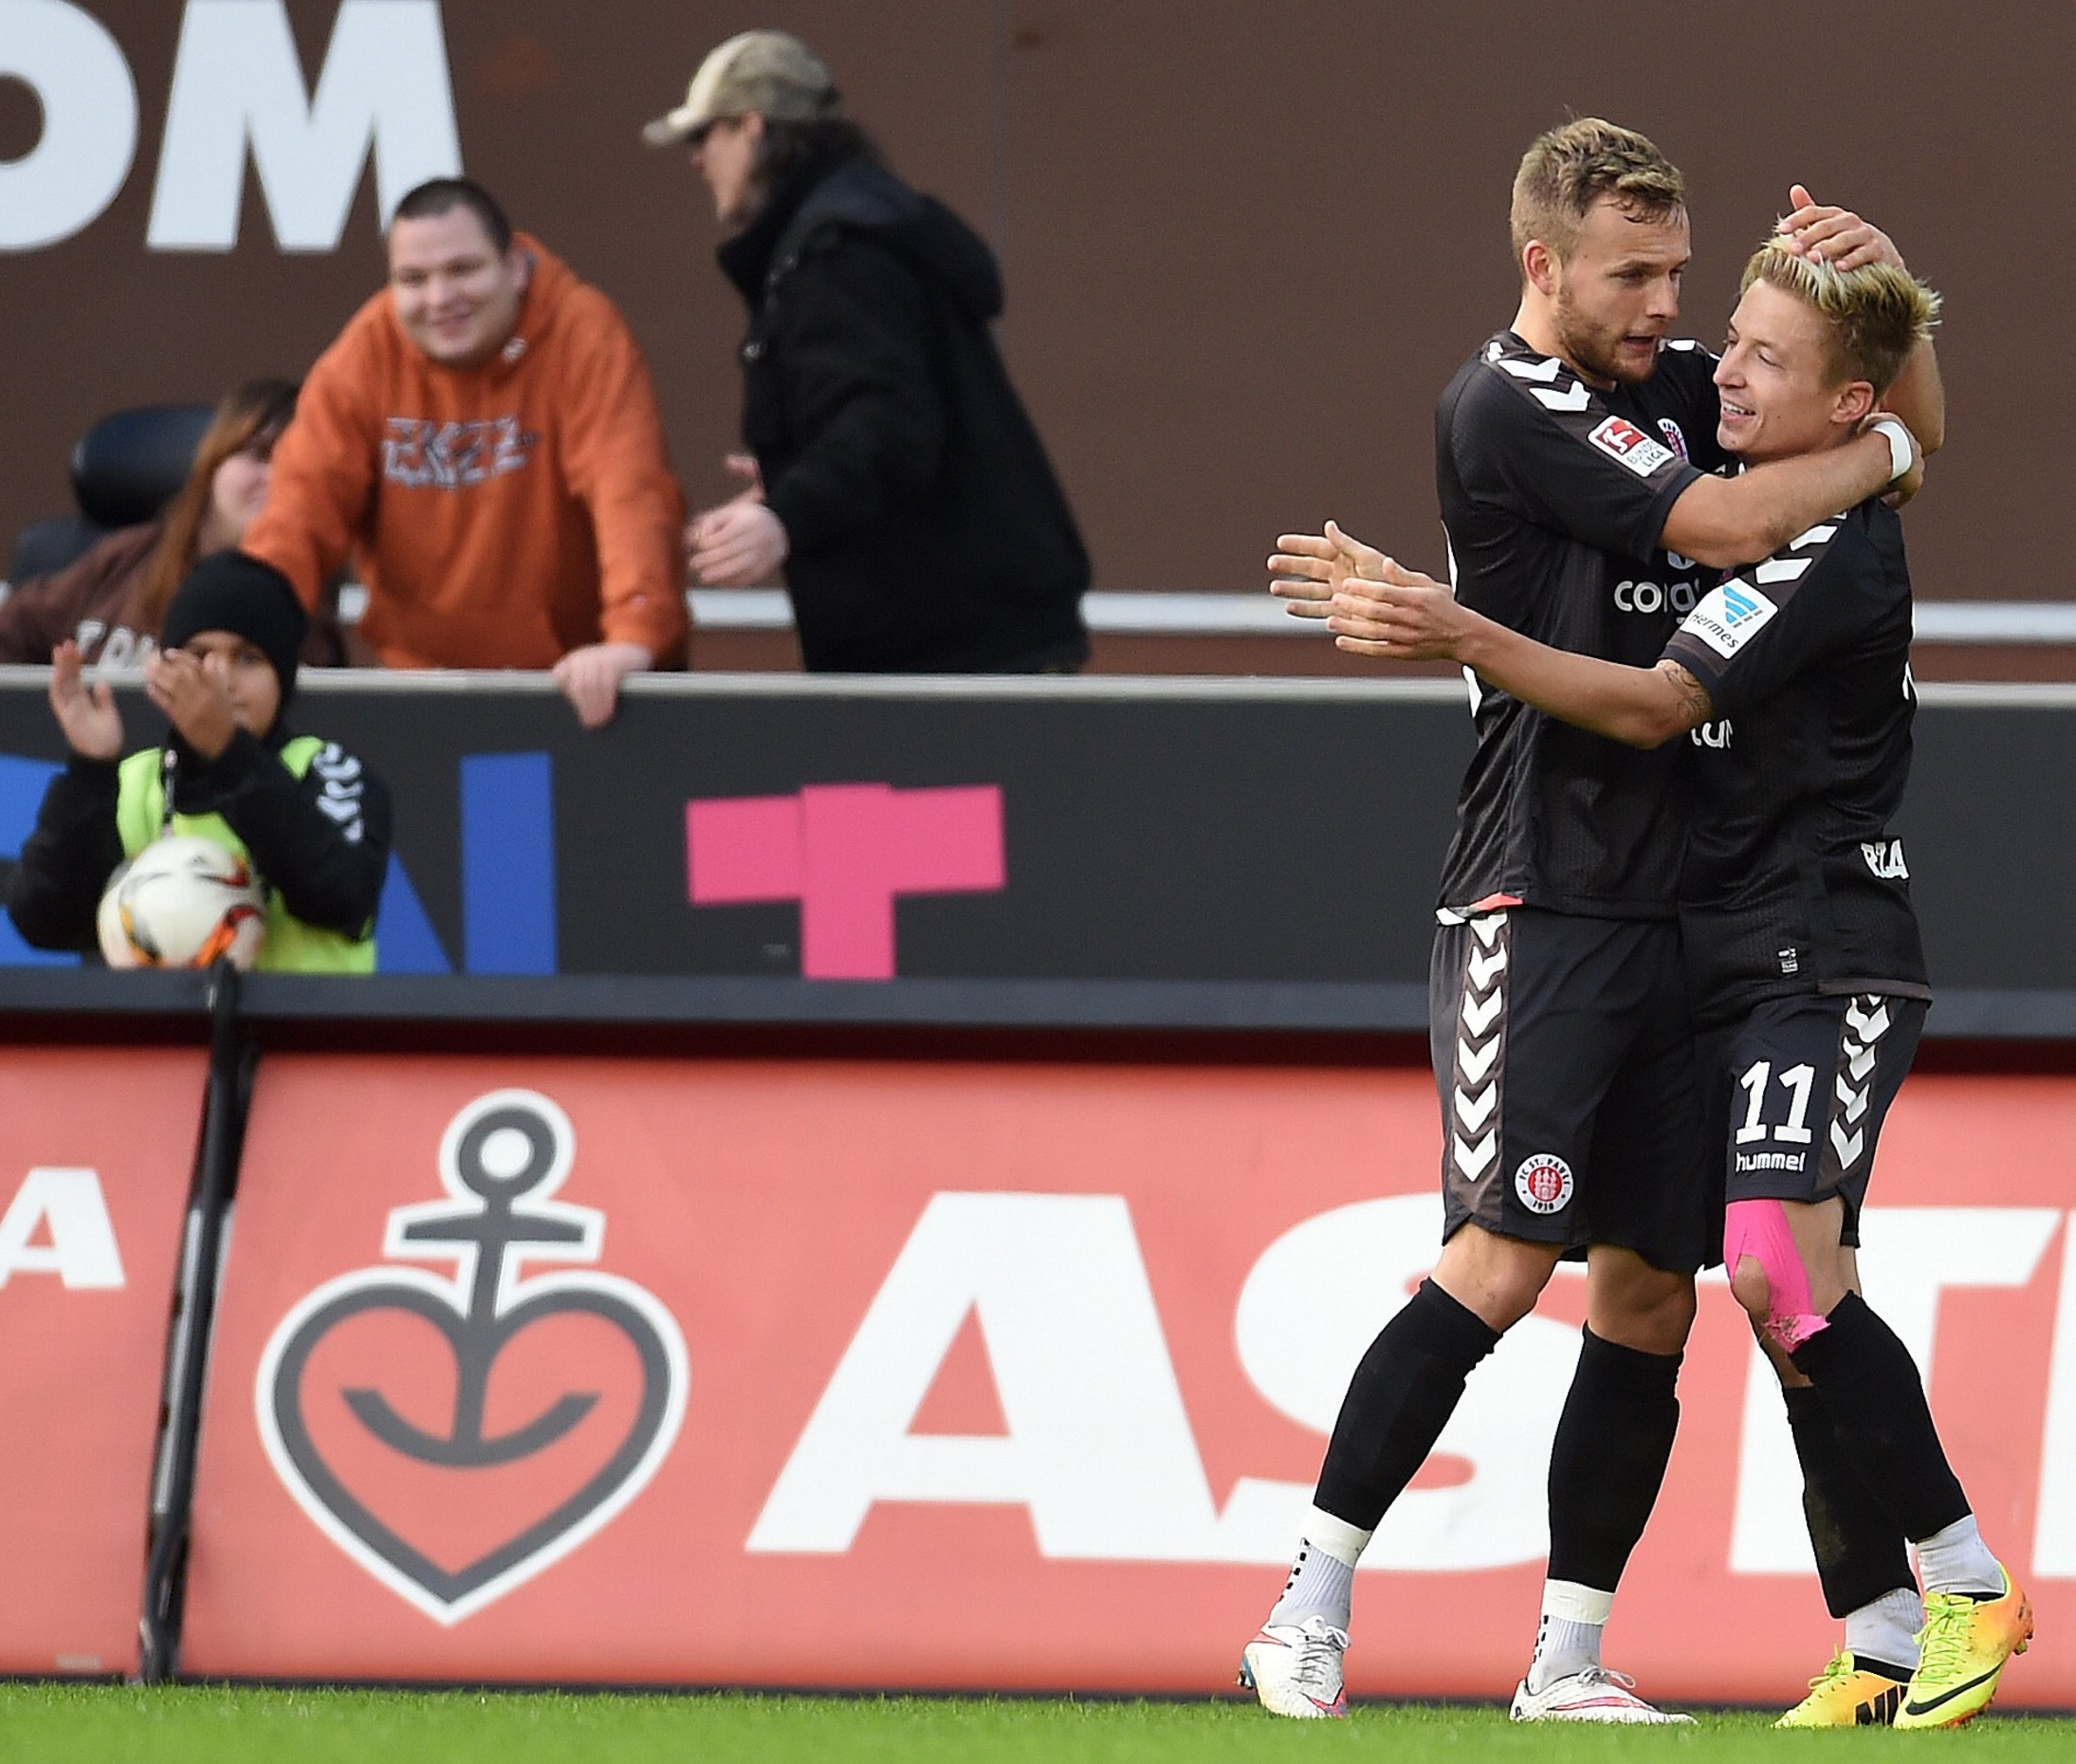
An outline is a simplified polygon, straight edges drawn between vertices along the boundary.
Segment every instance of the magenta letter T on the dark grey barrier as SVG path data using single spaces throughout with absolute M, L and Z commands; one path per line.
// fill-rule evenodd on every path
M 799 901 L 808 980 L 893 980 L 895 894 L 986 894 L 1007 867 L 999 784 L 685 803 L 691 905 Z

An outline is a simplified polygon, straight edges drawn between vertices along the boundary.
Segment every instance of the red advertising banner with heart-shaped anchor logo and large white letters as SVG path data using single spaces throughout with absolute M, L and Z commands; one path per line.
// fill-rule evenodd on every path
M 1420 1071 L 274 1056 L 203 1417 L 203 1675 L 1214 1691 L 1428 1268 Z M 1866 1216 L 2076 1704 L 2076 1083 L 1920 1077 Z M 1584 1287 L 1356 1583 L 1356 1693 L 1505 1696 Z M 1410 1619 L 1410 1613 L 1414 1619 Z M 1833 1644 L 1721 1280 L 1609 1631 L 1650 1696 Z

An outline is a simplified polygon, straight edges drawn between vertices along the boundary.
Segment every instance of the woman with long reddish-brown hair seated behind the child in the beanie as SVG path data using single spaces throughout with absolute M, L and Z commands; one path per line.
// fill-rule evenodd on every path
M 274 442 L 295 415 L 295 392 L 291 380 L 247 380 L 224 394 L 187 484 L 156 521 L 122 527 L 64 569 L 17 583 L 0 602 L 0 662 L 48 662 L 71 641 L 87 664 L 143 666 L 195 560 L 237 546 L 266 502 Z M 303 660 L 345 660 L 338 627 L 311 625 Z

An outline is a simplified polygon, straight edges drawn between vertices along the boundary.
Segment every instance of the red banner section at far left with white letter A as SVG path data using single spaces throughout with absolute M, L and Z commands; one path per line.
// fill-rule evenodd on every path
M 0 1050 L 0 1673 L 133 1673 L 208 1058 Z

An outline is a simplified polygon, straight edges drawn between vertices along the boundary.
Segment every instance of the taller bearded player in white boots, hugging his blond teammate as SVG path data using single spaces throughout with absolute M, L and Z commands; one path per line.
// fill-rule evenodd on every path
M 1796 187 L 1783 247 L 1835 270 L 1895 257 L 1860 216 Z M 1435 475 L 1462 604 L 1605 664 L 1648 670 L 1717 569 L 1767 558 L 1868 496 L 1916 486 L 1918 450 L 1862 436 L 1738 469 L 1715 359 L 1671 336 L 1690 237 L 1679 170 L 1586 116 L 1540 135 L 1513 183 L 1520 307 L 1443 392 Z M 1931 351 L 1893 388 L 1927 444 Z M 1347 562 L 1285 535 L 1271 567 L 1324 616 Z M 1679 1420 L 1694 1272 L 1721 1202 L 1679 955 L 1677 755 L 1572 728 L 1472 681 L 1476 753 L 1443 865 L 1430 1046 L 1445 1241 L 1432 1278 L 1358 1363 L 1298 1559 L 1244 1675 L 1277 1714 L 1345 1706 L 1351 1577 L 1466 1378 L 1557 1260 L 1586 1258 L 1586 1326 L 1551 1444 L 1551 1552 L 1520 1720 L 1669 1716 L 1601 1664 L 1615 1588 Z

